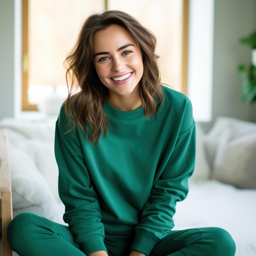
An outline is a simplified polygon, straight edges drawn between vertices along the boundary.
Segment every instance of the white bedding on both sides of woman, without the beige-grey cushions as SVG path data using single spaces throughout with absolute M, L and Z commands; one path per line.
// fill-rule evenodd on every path
M 54 158 L 55 120 L 0 121 L 9 139 L 14 216 L 28 210 L 64 224 Z M 188 197 L 177 203 L 175 229 L 222 227 L 236 242 L 236 256 L 256 256 L 256 189 L 210 180 L 204 139 L 197 125 L 195 173 L 189 180 Z

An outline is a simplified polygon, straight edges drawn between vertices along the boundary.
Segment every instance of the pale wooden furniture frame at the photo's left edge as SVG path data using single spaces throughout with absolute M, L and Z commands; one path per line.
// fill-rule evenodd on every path
M 12 256 L 12 250 L 7 241 L 7 227 L 12 220 L 11 177 L 8 155 L 7 136 L 0 129 L 0 200 L 2 217 L 2 256 Z

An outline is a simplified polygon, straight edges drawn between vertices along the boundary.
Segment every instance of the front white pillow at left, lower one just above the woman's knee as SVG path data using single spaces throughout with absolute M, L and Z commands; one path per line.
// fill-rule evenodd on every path
M 34 209 L 40 209 L 40 212 L 36 213 L 55 220 L 58 213 L 56 200 L 34 162 L 12 144 L 9 144 L 9 161 L 13 211 L 29 211 L 34 207 Z

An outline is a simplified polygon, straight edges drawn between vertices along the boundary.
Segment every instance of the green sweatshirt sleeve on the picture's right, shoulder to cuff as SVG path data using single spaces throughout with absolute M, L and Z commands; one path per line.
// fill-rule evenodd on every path
M 174 227 L 173 215 L 177 201 L 188 193 L 188 178 L 195 163 L 195 123 L 192 106 L 187 103 L 173 146 L 170 146 L 168 161 L 158 174 L 150 196 L 135 227 L 135 238 L 131 250 L 149 255 L 156 243 Z

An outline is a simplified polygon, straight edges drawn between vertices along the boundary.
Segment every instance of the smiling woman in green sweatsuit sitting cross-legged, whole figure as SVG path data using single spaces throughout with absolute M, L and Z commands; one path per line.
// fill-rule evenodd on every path
M 69 227 L 18 214 L 7 235 L 20 256 L 234 256 L 224 229 L 173 230 L 194 170 L 195 122 L 190 100 L 159 83 L 155 45 L 124 12 L 85 21 L 67 56 L 70 94 L 56 121 Z

